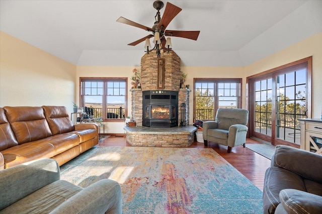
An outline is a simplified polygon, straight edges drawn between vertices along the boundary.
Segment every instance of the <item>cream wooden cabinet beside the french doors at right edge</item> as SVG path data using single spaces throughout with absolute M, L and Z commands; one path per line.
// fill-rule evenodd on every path
M 300 148 L 322 155 L 322 120 L 298 119 L 301 126 Z

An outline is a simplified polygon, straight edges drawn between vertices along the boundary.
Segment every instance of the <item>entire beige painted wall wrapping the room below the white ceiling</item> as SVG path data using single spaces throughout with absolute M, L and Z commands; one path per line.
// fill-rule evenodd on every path
M 0 32 L 0 106 L 64 105 L 72 111 L 78 103 L 79 77 L 128 77 L 131 88 L 135 66 L 75 66 L 26 42 Z M 143 55 L 143 53 L 142 53 Z M 182 67 L 185 84 L 193 89 L 193 78 L 243 78 L 243 108 L 246 107 L 246 77 L 308 56 L 313 56 L 312 118 L 322 108 L 322 33 L 309 37 L 282 51 L 245 67 Z M 130 102 L 128 95 L 128 103 Z M 128 106 L 131 114 L 131 108 Z M 190 94 L 193 109 L 193 91 Z M 192 118 L 192 112 L 190 118 Z M 192 120 L 191 124 L 193 123 Z M 108 133 L 124 133 L 124 123 L 106 123 Z

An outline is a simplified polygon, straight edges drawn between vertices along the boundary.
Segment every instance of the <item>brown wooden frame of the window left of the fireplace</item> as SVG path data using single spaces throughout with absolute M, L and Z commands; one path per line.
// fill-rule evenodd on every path
M 125 82 L 125 95 L 124 95 L 124 118 L 107 118 L 107 112 L 106 112 L 106 96 L 107 96 L 107 82 L 108 81 L 124 81 Z M 128 116 L 128 106 L 127 106 L 127 97 L 128 97 L 128 78 L 127 77 L 79 77 L 79 103 L 80 106 L 85 106 L 85 100 L 84 96 L 82 94 L 82 83 L 86 81 L 103 81 L 103 94 L 102 94 L 102 119 L 103 122 L 124 122 L 126 117 Z

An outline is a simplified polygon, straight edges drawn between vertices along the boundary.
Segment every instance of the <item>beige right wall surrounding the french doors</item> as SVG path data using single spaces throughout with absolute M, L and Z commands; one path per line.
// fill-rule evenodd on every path
M 308 56 L 313 56 L 312 118 L 320 118 L 322 112 L 322 32 L 253 64 L 245 66 L 245 77 L 267 71 Z M 246 91 L 246 88 L 244 88 L 243 91 Z M 245 98 L 243 98 L 243 100 L 244 99 Z

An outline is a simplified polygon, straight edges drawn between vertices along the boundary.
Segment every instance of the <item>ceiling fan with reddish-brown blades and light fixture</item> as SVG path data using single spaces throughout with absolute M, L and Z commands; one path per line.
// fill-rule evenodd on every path
M 157 57 L 160 57 L 160 50 L 170 51 L 172 49 L 171 44 L 171 36 L 174 37 L 181 37 L 186 39 L 197 40 L 200 31 L 173 31 L 173 30 L 166 30 L 170 22 L 182 11 L 181 8 L 167 3 L 164 15 L 162 18 L 160 17 L 160 10 L 164 7 L 164 3 L 162 1 L 155 1 L 153 3 L 153 8 L 157 10 L 156 15 L 154 17 L 155 22 L 152 28 L 146 27 L 144 25 L 140 25 L 138 23 L 132 22 L 124 17 L 120 17 L 117 22 L 131 25 L 137 28 L 141 28 L 143 30 L 151 32 L 151 34 L 136 40 L 128 45 L 135 46 L 143 41 L 145 41 L 144 48 L 146 49 L 146 53 L 149 54 L 152 50 L 156 50 Z M 167 40 L 166 37 L 167 36 Z M 150 38 L 154 37 L 153 43 L 154 47 L 151 49 L 150 45 Z

